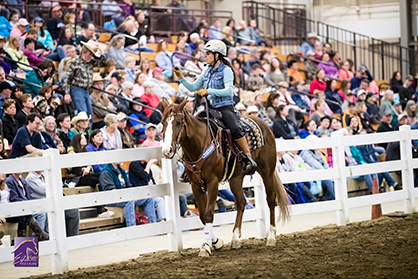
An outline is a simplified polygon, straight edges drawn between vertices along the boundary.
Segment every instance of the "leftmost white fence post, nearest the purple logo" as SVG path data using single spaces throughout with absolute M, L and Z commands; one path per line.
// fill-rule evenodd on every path
M 44 157 L 49 157 L 51 162 L 51 168 L 45 171 L 46 197 L 54 200 L 54 211 L 48 213 L 49 239 L 57 243 L 57 253 L 51 255 L 52 274 L 62 274 L 69 270 L 59 156 L 58 149 L 44 151 Z

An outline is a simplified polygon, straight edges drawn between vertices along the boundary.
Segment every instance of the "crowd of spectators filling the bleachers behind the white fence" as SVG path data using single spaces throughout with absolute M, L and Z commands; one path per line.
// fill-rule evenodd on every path
M 158 6 L 159 1 L 155 2 Z M 286 57 L 279 55 L 255 20 L 248 26 L 242 20 L 239 27 L 233 19 L 226 26 L 219 20 L 210 26 L 202 20 L 190 33 L 156 38 L 147 29 L 144 11 L 135 11 L 131 1 L 103 3 L 107 4 L 101 6 L 103 15 L 113 20 L 117 30 L 112 38 L 109 33 L 97 32 L 94 24 L 85 23 L 90 22 L 87 12 L 74 14 L 59 5 L 51 8 L 47 22 L 21 9 L 11 9 L 9 18 L 0 16 L 1 159 L 42 156 L 49 148 L 74 154 L 159 146 L 162 98 L 176 103 L 188 98 L 187 108 L 191 113 L 194 108 L 195 92 L 176 83 L 173 66 L 180 66 L 185 78 L 194 81 L 205 67 L 202 49 L 210 39 L 227 45 L 227 59 L 240 79 L 234 88 L 236 110 L 263 119 L 278 139 L 309 140 L 329 137 L 337 130 L 361 135 L 395 131 L 401 125 L 417 126 L 413 77 L 402 78 L 395 72 L 390 89 L 381 91 L 366 65 L 354 68 L 350 57 L 340 57 L 338 49 L 320 42 L 314 33 L 308 34 L 300 53 Z M 162 12 L 180 11 L 169 8 L 186 10 L 176 0 Z M 76 25 L 81 21 L 82 25 Z M 109 35 L 107 39 L 105 35 Z M 399 145 L 352 146 L 346 147 L 345 154 L 349 166 L 378 162 L 380 154 L 386 154 L 386 160 L 396 160 Z M 131 162 L 126 170 L 120 164 L 83 166 L 67 169 L 63 182 L 100 191 L 157 184 L 160 167 L 157 160 Z M 328 149 L 277 154 L 279 172 L 327 168 L 332 168 Z M 180 173 L 182 169 L 179 164 Z M 30 173 L 27 180 L 20 174 L 10 175 L 10 179 L 0 176 L 0 202 L 16 201 L 14 195 L 18 194 L 26 199 L 44 197 L 32 192 L 30 176 L 43 179 L 41 172 Z M 365 181 L 372 192 L 372 177 L 354 179 Z M 388 173 L 376 177 L 380 184 L 385 180 L 391 190 L 399 189 Z M 12 180 L 20 184 L 21 193 L 11 190 L 12 182 L 8 182 Z M 294 203 L 335 198 L 331 180 L 286 187 Z M 6 194 L 9 191 L 10 195 Z M 234 201 L 228 191 L 221 196 L 220 211 L 227 204 L 225 199 Z M 182 216 L 190 215 L 190 198 L 180 196 Z M 111 206 L 123 207 L 131 226 L 136 224 L 134 210 L 139 204 L 144 205 L 149 222 L 165 219 L 161 198 Z M 252 207 L 249 202 L 247 206 Z M 102 209 L 99 213 L 106 212 Z M 68 214 L 69 218 L 74 216 L 74 212 Z M 35 217 L 47 232 L 46 214 Z M 0 219 L 0 223 L 5 221 Z M 69 230 L 69 235 L 76 233 Z

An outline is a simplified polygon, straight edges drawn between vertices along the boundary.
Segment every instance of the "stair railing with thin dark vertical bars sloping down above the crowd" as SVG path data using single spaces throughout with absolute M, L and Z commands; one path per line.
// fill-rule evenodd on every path
M 366 35 L 358 34 L 323 22 L 315 22 L 306 17 L 303 7 L 273 7 L 270 3 L 244 1 L 244 20 L 256 19 L 257 26 L 265 34 L 271 34 L 281 54 L 299 52 L 309 32 L 316 32 L 321 42 L 330 43 L 332 49 L 340 53 L 342 60 L 351 59 L 354 69 L 366 64 L 375 80 L 389 80 L 394 71 L 402 72 L 402 63 L 408 72 L 418 73 L 418 51 L 401 47 L 399 43 L 389 43 Z

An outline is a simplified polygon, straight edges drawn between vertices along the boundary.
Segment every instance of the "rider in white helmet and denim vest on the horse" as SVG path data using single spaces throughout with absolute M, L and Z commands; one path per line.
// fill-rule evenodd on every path
M 233 90 L 239 79 L 231 63 L 225 59 L 226 46 L 220 40 L 210 40 L 203 50 L 209 67 L 203 71 L 195 82 L 187 81 L 177 66 L 173 68 L 174 73 L 180 83 L 190 92 L 200 89 L 197 94 L 202 97 L 207 96 L 207 99 L 211 101 L 211 106 L 222 113 L 223 122 L 231 130 L 232 137 L 239 149 L 245 154 L 242 156 L 245 164 L 243 167 L 244 173 L 254 173 L 257 164 L 251 158 L 247 140 L 238 126 L 234 112 Z

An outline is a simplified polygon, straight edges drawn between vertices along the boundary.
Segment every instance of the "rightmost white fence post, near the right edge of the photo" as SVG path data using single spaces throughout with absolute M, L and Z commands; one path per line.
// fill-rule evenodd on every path
M 414 170 L 412 169 L 411 127 L 403 125 L 399 128 L 403 132 L 400 141 L 401 160 L 406 162 L 406 170 L 402 170 L 402 191 L 406 191 L 405 213 L 415 211 Z

